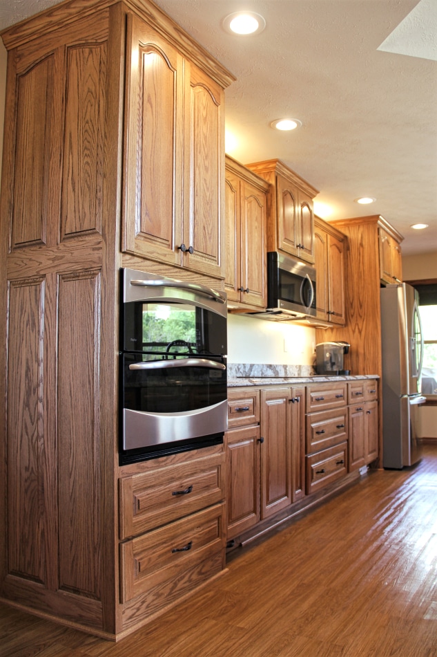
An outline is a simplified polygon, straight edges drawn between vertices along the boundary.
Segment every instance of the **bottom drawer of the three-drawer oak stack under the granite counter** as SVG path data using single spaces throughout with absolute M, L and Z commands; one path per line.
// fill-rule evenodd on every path
M 307 494 L 347 474 L 347 443 L 307 456 Z

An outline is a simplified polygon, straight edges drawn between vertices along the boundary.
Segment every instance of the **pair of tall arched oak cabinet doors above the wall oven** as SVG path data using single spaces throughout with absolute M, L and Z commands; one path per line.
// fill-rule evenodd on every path
M 128 19 L 122 248 L 224 278 L 224 91 Z

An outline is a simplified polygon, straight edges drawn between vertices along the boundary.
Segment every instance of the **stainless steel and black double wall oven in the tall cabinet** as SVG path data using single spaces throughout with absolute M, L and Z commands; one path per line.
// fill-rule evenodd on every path
M 120 464 L 221 443 L 226 295 L 122 270 Z

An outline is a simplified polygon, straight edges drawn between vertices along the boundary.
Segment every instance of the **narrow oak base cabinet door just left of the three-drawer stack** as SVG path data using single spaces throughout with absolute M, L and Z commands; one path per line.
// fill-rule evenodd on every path
M 292 501 L 305 494 L 305 388 L 291 388 L 291 481 Z

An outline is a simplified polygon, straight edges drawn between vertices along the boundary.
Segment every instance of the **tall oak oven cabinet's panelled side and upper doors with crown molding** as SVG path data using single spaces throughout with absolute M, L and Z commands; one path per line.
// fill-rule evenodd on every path
M 116 638 L 148 616 L 120 602 L 119 268 L 222 288 L 233 76 L 148 0 L 68 0 L 1 36 L 0 597 Z

